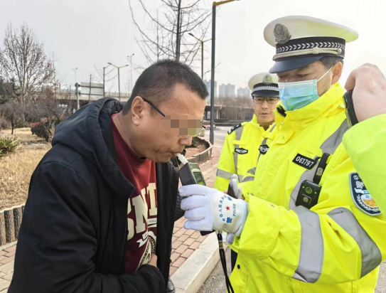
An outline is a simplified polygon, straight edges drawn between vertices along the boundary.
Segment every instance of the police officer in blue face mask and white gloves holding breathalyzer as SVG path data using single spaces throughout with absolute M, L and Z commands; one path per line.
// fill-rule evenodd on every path
M 280 123 L 261 156 L 249 202 L 183 186 L 185 228 L 235 233 L 235 292 L 373 292 L 386 258 L 386 220 L 341 140 L 339 85 L 346 43 L 358 33 L 289 16 L 269 23 L 276 47 Z

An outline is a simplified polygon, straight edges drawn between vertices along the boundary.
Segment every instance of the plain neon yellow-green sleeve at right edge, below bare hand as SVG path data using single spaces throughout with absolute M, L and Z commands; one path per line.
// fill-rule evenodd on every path
M 343 144 L 375 203 L 386 215 L 386 114 L 354 125 L 343 136 Z

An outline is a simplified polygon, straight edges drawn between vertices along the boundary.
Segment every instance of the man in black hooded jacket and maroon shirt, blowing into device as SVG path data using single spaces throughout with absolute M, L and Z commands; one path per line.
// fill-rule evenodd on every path
M 163 60 L 126 105 L 103 98 L 61 123 L 31 177 L 9 292 L 166 292 L 169 160 L 191 144 L 207 95 L 188 66 Z

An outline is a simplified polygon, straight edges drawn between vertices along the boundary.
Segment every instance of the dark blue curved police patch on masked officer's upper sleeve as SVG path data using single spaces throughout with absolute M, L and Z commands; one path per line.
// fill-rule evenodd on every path
M 368 189 L 358 173 L 350 174 L 350 191 L 355 205 L 368 215 L 380 215 L 377 203 L 372 199 Z

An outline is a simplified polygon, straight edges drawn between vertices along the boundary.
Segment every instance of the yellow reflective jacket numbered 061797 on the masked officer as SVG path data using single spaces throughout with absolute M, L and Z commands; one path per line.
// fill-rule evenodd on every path
M 249 215 L 230 277 L 235 292 L 373 292 L 386 257 L 386 220 L 365 197 L 341 140 L 344 90 L 286 112 L 257 164 Z M 332 154 L 311 210 L 295 206 L 301 183 Z M 370 211 L 368 211 L 370 210 Z M 374 215 L 369 215 L 374 213 Z

